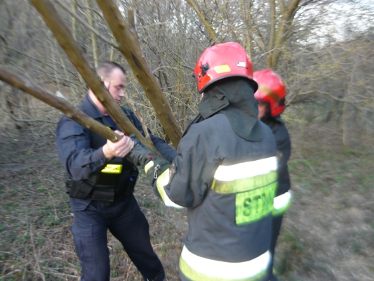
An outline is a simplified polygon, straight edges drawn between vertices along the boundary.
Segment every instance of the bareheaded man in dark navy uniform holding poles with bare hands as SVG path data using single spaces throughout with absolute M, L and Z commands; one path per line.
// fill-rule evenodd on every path
M 126 72 L 116 63 L 99 65 L 98 74 L 117 103 L 123 98 Z M 119 127 L 91 90 L 78 108 L 116 133 Z M 123 112 L 144 134 L 131 110 Z M 116 237 L 144 280 L 163 280 L 161 261 L 149 240 L 149 225 L 133 196 L 138 169 L 124 158 L 133 148 L 127 136 L 112 143 L 67 116 L 57 126 L 57 148 L 67 171 L 67 190 L 74 213 L 71 228 L 82 281 L 109 281 L 107 230 Z M 157 150 L 172 162 L 176 152 L 161 138 L 150 134 Z

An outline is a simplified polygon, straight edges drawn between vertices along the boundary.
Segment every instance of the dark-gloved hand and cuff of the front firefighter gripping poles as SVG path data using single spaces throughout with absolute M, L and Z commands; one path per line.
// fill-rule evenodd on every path
M 145 168 L 148 180 L 154 185 L 157 177 L 168 169 L 171 164 L 166 159 L 157 156 L 152 150 L 146 148 L 133 133 L 130 138 L 134 141 L 134 148 L 126 156 L 128 161 Z

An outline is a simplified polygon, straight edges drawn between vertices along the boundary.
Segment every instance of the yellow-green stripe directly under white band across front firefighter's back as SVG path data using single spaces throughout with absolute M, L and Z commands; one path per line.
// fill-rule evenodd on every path
M 238 193 L 261 188 L 275 181 L 276 171 L 271 171 L 269 174 L 253 176 L 251 178 L 240 178 L 234 181 L 218 181 L 214 179 L 211 189 L 221 194 Z

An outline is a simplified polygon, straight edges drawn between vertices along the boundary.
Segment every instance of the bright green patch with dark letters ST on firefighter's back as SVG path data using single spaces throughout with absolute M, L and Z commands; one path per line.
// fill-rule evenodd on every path
M 273 211 L 273 200 L 277 183 L 235 195 L 236 225 L 253 223 Z

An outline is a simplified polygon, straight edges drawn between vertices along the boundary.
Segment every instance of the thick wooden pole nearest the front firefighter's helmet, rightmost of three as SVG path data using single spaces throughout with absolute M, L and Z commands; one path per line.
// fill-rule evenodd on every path
M 138 79 L 149 101 L 152 103 L 168 138 L 170 138 L 175 147 L 178 147 L 178 143 L 182 137 L 182 131 L 175 120 L 173 112 L 171 112 L 168 101 L 165 96 L 163 96 L 161 88 L 156 81 L 156 77 L 154 77 L 151 68 L 142 55 L 138 34 L 134 28 L 135 23 L 126 24 L 118 6 L 116 6 L 113 0 L 96 0 L 96 2 L 105 16 L 105 20 L 107 20 L 107 24 L 110 30 L 112 30 L 114 38 L 119 44 L 119 51 L 121 51 L 128 61 L 131 70 L 133 70 L 135 77 Z M 129 10 L 128 13 L 128 18 L 134 18 L 134 16 L 131 15 L 133 10 Z

